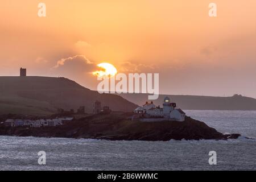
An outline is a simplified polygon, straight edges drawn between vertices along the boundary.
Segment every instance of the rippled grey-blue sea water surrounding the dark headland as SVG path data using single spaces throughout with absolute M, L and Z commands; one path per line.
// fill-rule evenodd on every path
M 242 137 L 144 142 L 0 136 L 0 170 L 256 170 L 256 111 L 185 112 Z M 46 165 L 38 164 L 39 151 L 46 151 Z M 216 151 L 216 165 L 209 165 L 209 151 Z

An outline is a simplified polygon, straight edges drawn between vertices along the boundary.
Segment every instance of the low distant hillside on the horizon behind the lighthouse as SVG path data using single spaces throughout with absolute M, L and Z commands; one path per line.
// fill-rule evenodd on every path
M 147 100 L 147 94 L 121 94 L 123 98 L 143 105 Z M 153 100 L 155 105 L 162 106 L 163 99 L 167 95 L 159 95 L 158 100 Z M 179 96 L 168 95 L 177 107 L 191 110 L 256 110 L 256 99 L 234 95 L 233 97 L 210 97 L 210 96 Z

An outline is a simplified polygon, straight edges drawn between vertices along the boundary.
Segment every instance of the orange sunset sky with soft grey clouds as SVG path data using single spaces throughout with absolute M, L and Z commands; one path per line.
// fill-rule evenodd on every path
M 23 67 L 96 90 L 92 72 L 107 62 L 118 73 L 159 73 L 162 94 L 256 98 L 255 8 L 254 0 L 1 1 L 0 76 Z

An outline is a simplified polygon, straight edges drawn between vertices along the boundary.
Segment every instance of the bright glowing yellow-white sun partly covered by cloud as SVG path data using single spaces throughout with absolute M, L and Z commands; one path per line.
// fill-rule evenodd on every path
M 98 77 L 113 77 L 115 74 L 117 74 L 117 69 L 110 63 L 100 63 L 97 66 L 101 68 L 101 70 L 93 72 L 93 75 Z

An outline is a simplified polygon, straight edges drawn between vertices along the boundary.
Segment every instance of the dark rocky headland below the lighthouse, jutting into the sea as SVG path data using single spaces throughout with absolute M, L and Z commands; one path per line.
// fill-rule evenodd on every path
M 150 141 L 227 138 L 204 122 L 189 117 L 184 122 L 139 122 L 126 120 L 123 115 L 116 114 L 92 115 L 56 127 L 0 127 L 0 135 Z

